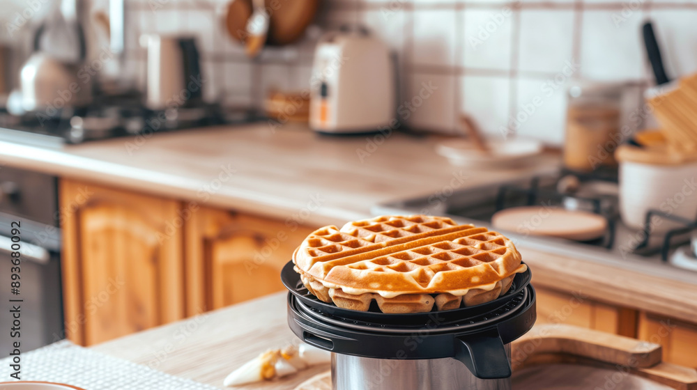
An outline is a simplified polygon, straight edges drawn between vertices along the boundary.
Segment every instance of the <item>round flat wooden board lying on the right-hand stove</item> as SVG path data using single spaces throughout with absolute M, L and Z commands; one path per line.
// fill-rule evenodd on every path
M 592 212 L 544 206 L 524 206 L 501 210 L 491 217 L 498 229 L 519 234 L 546 235 L 588 241 L 602 237 L 607 220 Z

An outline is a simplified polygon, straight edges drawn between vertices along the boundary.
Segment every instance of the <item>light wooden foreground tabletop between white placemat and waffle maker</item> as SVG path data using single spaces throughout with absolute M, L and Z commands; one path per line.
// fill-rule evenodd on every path
M 286 310 L 286 292 L 279 292 L 92 348 L 222 389 L 222 381 L 235 368 L 268 349 L 300 341 L 286 323 Z M 328 367 L 236 389 L 292 390 Z

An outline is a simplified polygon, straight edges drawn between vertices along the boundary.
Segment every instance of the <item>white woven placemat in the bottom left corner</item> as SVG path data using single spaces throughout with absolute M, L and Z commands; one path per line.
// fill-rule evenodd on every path
M 70 341 L 59 341 L 22 354 L 21 379 L 72 384 L 86 390 L 215 390 L 206 384 L 174 377 L 118 359 Z M 0 360 L 0 382 L 10 382 L 11 357 Z

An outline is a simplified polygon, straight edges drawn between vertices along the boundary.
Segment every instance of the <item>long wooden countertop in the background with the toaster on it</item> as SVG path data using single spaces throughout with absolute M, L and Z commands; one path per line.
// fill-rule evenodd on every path
M 386 141 L 322 137 L 298 125 L 274 130 L 256 123 L 56 149 L 0 141 L 0 162 L 280 220 L 309 210 L 302 217 L 317 226 L 367 218 L 379 202 L 530 171 L 530 166 L 491 171 L 452 166 L 436 154 L 438 141 L 399 133 Z M 558 157 L 544 156 L 536 166 L 557 165 Z

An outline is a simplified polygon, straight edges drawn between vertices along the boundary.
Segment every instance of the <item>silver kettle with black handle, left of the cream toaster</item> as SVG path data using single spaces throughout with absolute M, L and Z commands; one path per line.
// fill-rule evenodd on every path
M 201 77 L 194 38 L 145 34 L 140 44 L 148 52 L 145 95 L 148 109 L 178 109 L 201 101 L 205 80 Z

